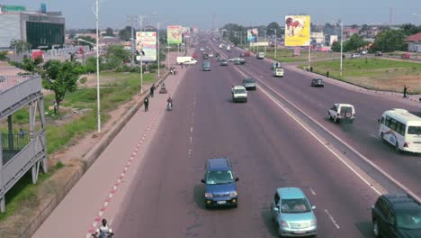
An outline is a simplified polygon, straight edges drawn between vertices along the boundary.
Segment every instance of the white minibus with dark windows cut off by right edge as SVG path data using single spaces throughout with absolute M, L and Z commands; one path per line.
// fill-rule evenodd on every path
M 391 109 L 379 119 L 381 141 L 390 142 L 396 151 L 421 153 L 421 118 L 405 109 Z

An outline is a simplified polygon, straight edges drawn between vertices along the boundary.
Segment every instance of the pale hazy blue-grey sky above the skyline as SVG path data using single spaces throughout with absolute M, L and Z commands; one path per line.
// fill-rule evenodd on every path
M 67 28 L 94 28 L 94 0 L 0 0 L 0 5 L 25 5 L 37 10 L 61 11 Z M 392 23 L 421 24 L 421 0 L 102 0 L 100 27 L 122 28 L 130 14 L 153 14 L 146 23 L 182 24 L 209 29 L 215 23 L 243 25 L 282 23 L 285 14 L 310 14 L 312 23 L 327 23 L 342 18 L 345 24 Z

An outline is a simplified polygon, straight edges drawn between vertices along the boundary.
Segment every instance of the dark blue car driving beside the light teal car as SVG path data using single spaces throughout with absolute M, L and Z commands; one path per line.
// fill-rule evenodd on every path
M 209 159 L 205 165 L 204 200 L 206 208 L 238 205 L 237 181 L 228 159 Z

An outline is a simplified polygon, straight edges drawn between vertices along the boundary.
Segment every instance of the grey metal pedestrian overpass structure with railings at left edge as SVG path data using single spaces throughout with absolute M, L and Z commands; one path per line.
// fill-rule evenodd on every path
M 28 109 L 27 133 L 13 128 L 13 114 Z M 31 169 L 36 183 L 40 166 L 47 172 L 44 101 L 40 76 L 0 76 L 0 211 L 7 191 Z M 6 126 L 5 126 L 6 125 Z

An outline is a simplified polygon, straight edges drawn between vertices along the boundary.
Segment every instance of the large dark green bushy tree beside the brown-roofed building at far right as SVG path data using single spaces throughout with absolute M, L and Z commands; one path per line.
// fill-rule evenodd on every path
M 406 35 L 402 30 L 386 30 L 377 34 L 374 49 L 385 52 L 404 50 Z

